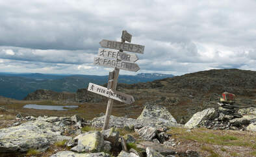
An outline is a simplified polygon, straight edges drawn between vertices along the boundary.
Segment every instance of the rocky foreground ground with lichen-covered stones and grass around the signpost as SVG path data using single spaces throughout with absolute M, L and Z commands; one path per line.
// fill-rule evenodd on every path
M 0 109 L 8 112 L 4 108 Z M 77 115 L 71 117 L 33 117 L 17 114 L 11 124 L 12 126 L 0 129 L 0 156 L 255 155 L 256 108 L 244 108 L 238 111 L 237 114 L 241 115 L 240 118 L 243 118 L 243 121 L 239 119 L 236 121 L 242 124 L 244 131 L 235 132 L 237 136 L 219 135 L 226 142 L 217 144 L 222 147 L 220 149 L 222 152 L 218 152 L 219 149 L 209 150 L 212 141 L 203 144 L 196 141 L 191 145 L 192 139 L 184 141 L 177 138 L 177 134 L 181 134 L 181 137 L 198 134 L 198 130 L 196 130 L 198 127 L 209 126 L 207 125 L 209 123 L 205 122 L 216 121 L 216 118 L 221 121 L 223 115 L 220 113 L 214 108 L 207 108 L 194 114 L 185 125 L 181 125 L 164 106 L 145 104 L 144 110 L 137 119 L 111 116 L 111 128 L 109 130 L 101 130 L 104 115 L 90 121 Z M 219 129 L 225 130 L 227 128 L 219 127 Z M 240 130 L 238 127 L 228 129 Z M 183 130 L 183 132 L 177 133 L 177 130 Z M 202 131 L 205 132 L 206 130 Z M 230 134 L 230 132 L 225 132 L 225 134 Z M 234 133 L 231 132 L 231 134 Z M 243 142 L 241 142 L 238 140 L 237 137 L 242 134 L 244 137 L 250 138 L 250 141 L 242 139 Z M 212 134 L 206 138 L 216 137 Z M 205 144 L 208 146 L 206 147 Z M 229 146 L 226 147 L 225 145 Z M 232 151 L 227 151 L 228 148 Z

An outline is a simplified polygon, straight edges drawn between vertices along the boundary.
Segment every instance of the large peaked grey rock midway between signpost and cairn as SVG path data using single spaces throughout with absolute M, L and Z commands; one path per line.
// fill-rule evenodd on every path
M 156 104 L 146 104 L 144 110 L 137 119 L 164 119 L 172 123 L 177 123 L 172 114 L 164 106 Z

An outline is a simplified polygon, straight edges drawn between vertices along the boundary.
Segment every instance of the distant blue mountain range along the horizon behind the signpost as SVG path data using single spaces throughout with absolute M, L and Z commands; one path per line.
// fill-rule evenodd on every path
M 138 75 L 120 75 L 118 82 L 134 84 L 150 82 L 173 75 L 159 73 L 140 73 Z M 89 82 L 95 84 L 107 83 L 109 76 L 97 75 L 57 75 L 42 73 L 0 73 L 0 95 L 13 99 L 23 99 L 27 94 L 39 89 L 57 92 L 75 92 L 86 88 Z

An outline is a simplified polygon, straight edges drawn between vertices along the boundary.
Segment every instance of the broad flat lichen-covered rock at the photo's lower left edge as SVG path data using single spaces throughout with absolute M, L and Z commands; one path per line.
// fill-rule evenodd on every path
M 47 121 L 29 121 L 17 127 L 0 129 L 1 152 L 44 151 L 61 138 L 63 128 Z

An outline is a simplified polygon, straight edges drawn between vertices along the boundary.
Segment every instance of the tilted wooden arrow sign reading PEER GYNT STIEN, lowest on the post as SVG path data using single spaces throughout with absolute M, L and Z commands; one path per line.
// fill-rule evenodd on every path
M 105 97 L 109 97 L 110 99 L 121 101 L 121 102 L 127 103 L 127 104 L 131 104 L 134 102 L 133 96 L 131 96 L 131 95 L 121 93 L 120 91 L 108 90 L 107 88 L 99 86 L 97 84 L 89 83 L 88 91 L 92 91 L 99 95 L 103 95 Z

